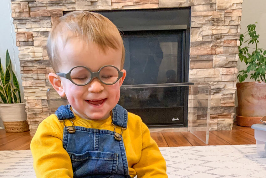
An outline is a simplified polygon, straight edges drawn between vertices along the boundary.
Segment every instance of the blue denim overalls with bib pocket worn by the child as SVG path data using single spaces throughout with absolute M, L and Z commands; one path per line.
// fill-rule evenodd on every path
M 112 114 L 113 124 L 127 127 L 127 111 L 123 107 L 116 105 Z M 60 106 L 55 115 L 59 120 L 74 118 L 70 105 Z M 115 132 L 110 130 L 74 126 L 69 133 L 67 129 L 64 128 L 63 147 L 70 156 L 74 177 L 130 178 L 122 137 L 120 141 L 114 139 Z

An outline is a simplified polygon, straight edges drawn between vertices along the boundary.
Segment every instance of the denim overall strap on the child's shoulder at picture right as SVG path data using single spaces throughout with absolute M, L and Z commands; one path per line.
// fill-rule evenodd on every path
M 117 104 L 112 110 L 112 123 L 122 128 L 127 127 L 127 110 Z

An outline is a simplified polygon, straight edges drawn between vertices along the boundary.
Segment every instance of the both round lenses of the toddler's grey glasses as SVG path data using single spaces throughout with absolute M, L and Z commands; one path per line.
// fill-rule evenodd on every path
M 119 73 L 115 67 L 105 66 L 99 72 L 99 80 L 106 84 L 112 84 L 118 79 Z M 85 67 L 76 67 L 71 73 L 72 81 L 78 85 L 84 85 L 90 81 L 91 73 Z

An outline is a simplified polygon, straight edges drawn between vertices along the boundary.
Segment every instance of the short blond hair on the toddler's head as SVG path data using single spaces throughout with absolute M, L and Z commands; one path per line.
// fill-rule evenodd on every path
M 88 11 L 73 11 L 60 17 L 53 24 L 47 40 L 47 53 L 54 71 L 59 70 L 58 45 L 65 45 L 69 33 L 81 37 L 84 41 L 92 41 L 99 45 L 103 52 L 107 47 L 122 49 L 121 69 L 125 61 L 125 48 L 120 32 L 115 24 L 99 13 Z M 72 35 L 73 36 L 73 35 Z M 71 37 L 72 37 L 71 36 Z

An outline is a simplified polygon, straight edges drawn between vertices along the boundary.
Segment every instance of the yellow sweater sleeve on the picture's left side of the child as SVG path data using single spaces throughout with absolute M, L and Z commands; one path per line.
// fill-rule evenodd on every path
M 73 177 L 72 164 L 67 151 L 63 148 L 63 134 L 56 123 L 45 120 L 39 124 L 30 143 L 33 168 L 37 178 Z

